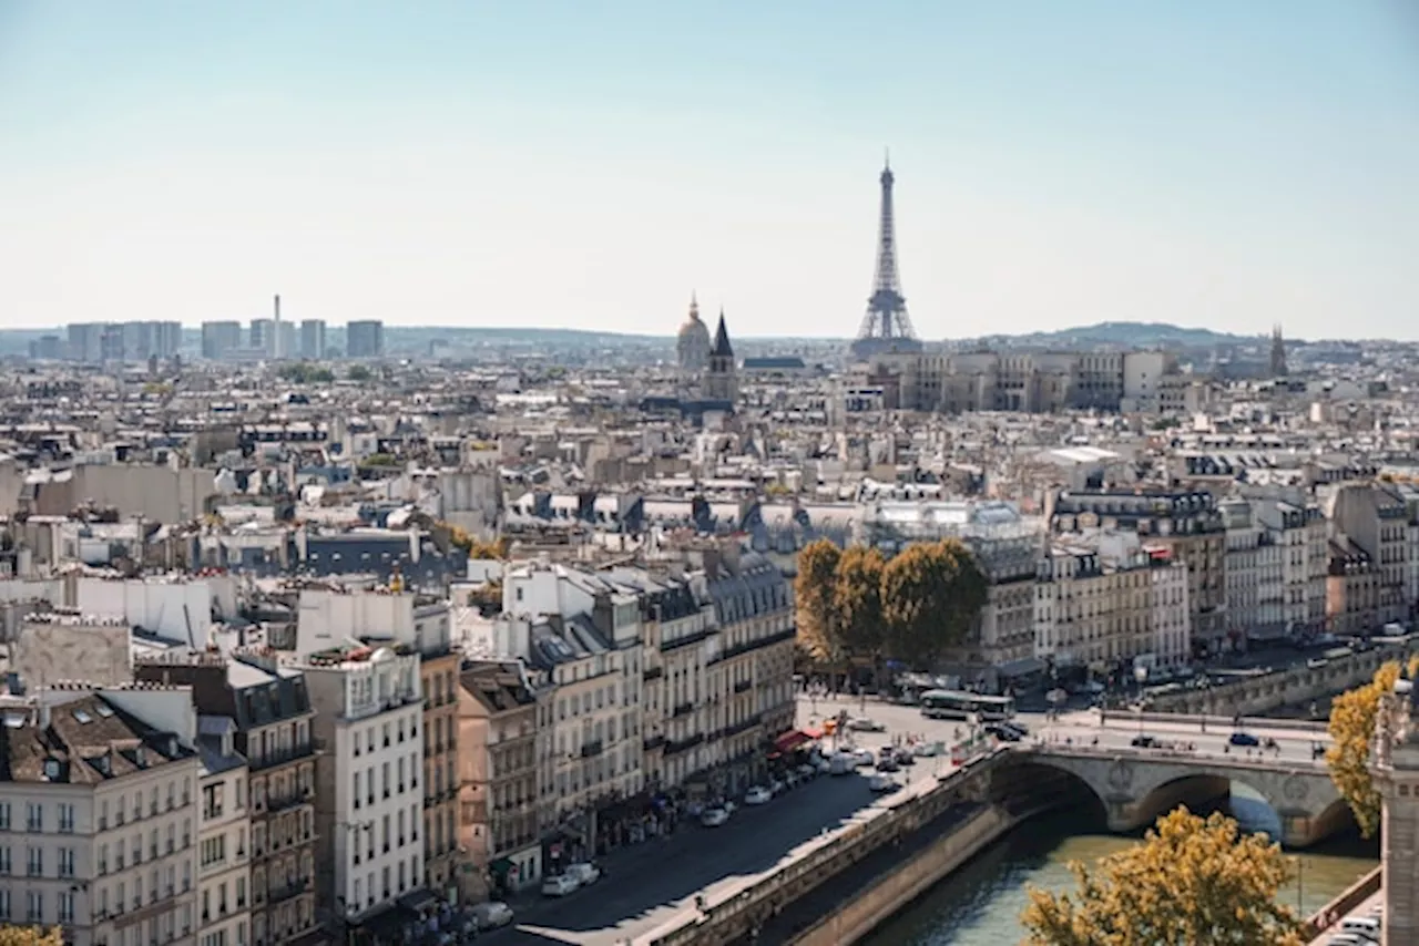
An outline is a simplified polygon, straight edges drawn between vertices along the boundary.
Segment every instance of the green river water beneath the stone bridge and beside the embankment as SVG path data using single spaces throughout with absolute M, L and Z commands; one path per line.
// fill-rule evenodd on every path
M 1233 783 L 1226 807 L 1249 830 L 1280 831 L 1276 813 L 1246 786 Z M 1015 946 L 1025 937 L 1020 912 L 1029 899 L 1029 885 L 1073 889 L 1070 861 L 1093 864 L 1138 842 L 1108 834 L 1101 821 L 1095 825 L 1087 821 L 1088 816 L 1080 811 L 1027 821 L 863 942 L 866 946 Z M 1279 899 L 1310 915 L 1372 869 L 1379 862 L 1379 848 L 1351 831 L 1288 857 L 1298 858 L 1300 884 L 1291 882 Z

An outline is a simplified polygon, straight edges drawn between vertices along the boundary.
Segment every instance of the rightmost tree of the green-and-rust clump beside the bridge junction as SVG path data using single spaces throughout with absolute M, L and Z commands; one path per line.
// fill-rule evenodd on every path
M 966 640 L 988 594 L 975 556 L 956 539 L 908 546 L 883 569 L 888 651 L 929 668 L 944 650 Z

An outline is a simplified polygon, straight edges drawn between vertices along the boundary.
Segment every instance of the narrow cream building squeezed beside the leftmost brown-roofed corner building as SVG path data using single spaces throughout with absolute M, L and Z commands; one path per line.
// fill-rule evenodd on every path
M 228 716 L 197 719 L 197 946 L 251 942 L 250 772 Z

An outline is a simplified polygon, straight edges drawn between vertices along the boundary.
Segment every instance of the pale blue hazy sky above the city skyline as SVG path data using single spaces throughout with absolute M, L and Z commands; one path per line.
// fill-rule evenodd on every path
M 1412 0 L 0 0 L 0 326 L 1419 339 Z

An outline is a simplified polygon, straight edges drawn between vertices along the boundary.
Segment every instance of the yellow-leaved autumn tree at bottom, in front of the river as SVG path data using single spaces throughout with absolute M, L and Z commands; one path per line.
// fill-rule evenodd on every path
M 1178 808 L 1142 844 L 1071 864 L 1077 889 L 1030 889 L 1026 946 L 1300 946 L 1296 913 L 1276 894 L 1291 877 L 1281 847 L 1213 813 Z

